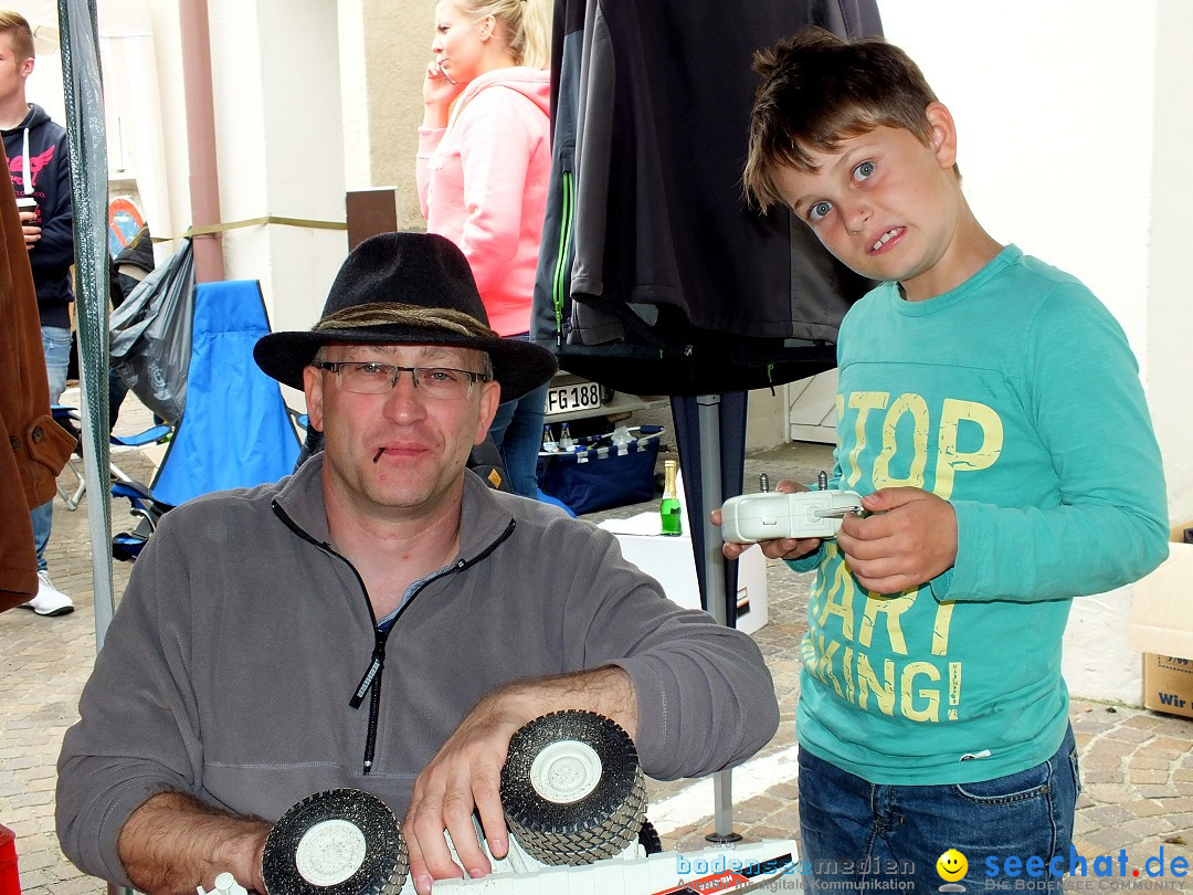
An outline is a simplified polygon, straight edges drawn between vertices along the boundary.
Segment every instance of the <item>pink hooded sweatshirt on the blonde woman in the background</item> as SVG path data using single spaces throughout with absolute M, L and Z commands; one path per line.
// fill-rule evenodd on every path
M 500 335 L 530 329 L 546 180 L 550 72 L 488 72 L 456 100 L 443 130 L 419 129 L 419 202 L 427 232 L 464 252 Z

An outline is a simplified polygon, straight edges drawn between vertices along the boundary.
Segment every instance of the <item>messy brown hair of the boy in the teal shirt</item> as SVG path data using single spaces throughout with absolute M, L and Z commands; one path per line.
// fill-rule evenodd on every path
M 834 152 L 874 128 L 903 128 L 928 144 L 925 115 L 935 93 L 910 57 L 882 38 L 842 41 L 810 25 L 754 56 L 762 84 L 750 112 L 747 192 L 764 209 L 781 203 L 775 169 L 815 169 L 808 150 Z

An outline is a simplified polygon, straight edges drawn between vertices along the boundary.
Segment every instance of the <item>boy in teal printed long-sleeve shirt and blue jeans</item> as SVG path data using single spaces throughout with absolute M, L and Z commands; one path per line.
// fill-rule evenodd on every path
M 1059 888 L 1080 789 L 1069 606 L 1167 555 L 1135 357 L 1077 279 L 982 229 L 952 116 L 902 50 L 806 29 L 758 70 L 748 190 L 883 282 L 837 344 L 830 487 L 869 516 L 762 544 L 816 569 L 802 857 L 859 888 L 914 865 L 921 891 L 957 882 L 937 869 L 950 848 L 971 885 L 1038 857 L 1033 885 Z

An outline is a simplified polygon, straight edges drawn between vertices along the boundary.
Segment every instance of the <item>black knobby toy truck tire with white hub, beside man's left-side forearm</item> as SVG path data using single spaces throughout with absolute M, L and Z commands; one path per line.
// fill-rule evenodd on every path
M 402 825 L 377 796 L 330 789 L 290 808 L 265 840 L 267 895 L 397 895 L 408 872 Z

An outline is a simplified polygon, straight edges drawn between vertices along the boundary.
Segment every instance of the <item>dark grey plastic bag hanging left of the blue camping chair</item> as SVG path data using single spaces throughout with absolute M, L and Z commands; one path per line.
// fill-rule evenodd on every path
M 194 316 L 191 241 L 146 277 L 112 311 L 112 366 L 157 416 L 178 422 L 186 407 Z

